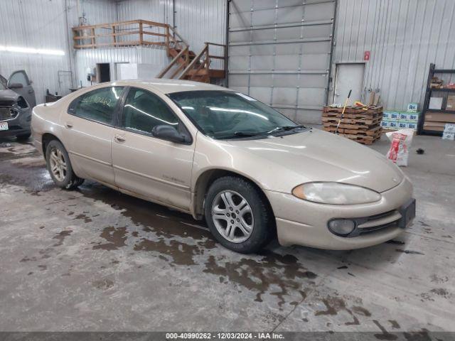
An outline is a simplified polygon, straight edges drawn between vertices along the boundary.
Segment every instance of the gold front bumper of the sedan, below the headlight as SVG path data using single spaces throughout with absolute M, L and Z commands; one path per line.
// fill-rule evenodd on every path
M 276 217 L 279 244 L 333 250 L 359 249 L 393 239 L 403 231 L 400 209 L 412 200 L 412 184 L 407 178 L 381 193 L 380 201 L 361 205 L 324 205 L 287 193 L 265 192 Z M 357 218 L 360 233 L 339 237 L 330 232 L 328 221 L 339 218 Z

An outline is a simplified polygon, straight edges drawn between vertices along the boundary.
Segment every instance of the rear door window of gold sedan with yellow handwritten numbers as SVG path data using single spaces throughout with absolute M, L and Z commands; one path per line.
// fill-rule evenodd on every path
M 112 124 L 115 107 L 122 95 L 123 87 L 103 87 L 82 94 L 70 107 L 70 114 L 83 119 L 92 119 Z

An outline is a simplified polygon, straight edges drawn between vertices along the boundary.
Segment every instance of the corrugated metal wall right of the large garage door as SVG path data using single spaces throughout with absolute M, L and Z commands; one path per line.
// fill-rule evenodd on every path
M 422 105 L 429 64 L 455 68 L 454 14 L 453 0 L 338 0 L 333 64 L 365 63 L 364 99 L 378 89 L 387 109 Z

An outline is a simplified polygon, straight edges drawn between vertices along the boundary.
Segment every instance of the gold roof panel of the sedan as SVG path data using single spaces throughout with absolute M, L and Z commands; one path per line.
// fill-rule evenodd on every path
M 150 80 L 117 80 L 115 82 L 110 82 L 110 84 L 151 88 L 151 90 L 159 91 L 164 94 L 197 90 L 229 90 L 228 88 L 208 83 L 192 82 L 190 80 L 168 80 L 161 78 L 153 78 Z

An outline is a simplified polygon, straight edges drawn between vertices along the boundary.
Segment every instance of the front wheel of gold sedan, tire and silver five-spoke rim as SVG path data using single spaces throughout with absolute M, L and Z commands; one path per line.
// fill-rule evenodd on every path
M 274 217 L 263 194 L 242 178 L 215 180 L 205 197 L 204 213 L 215 239 L 232 251 L 255 253 L 273 236 Z

